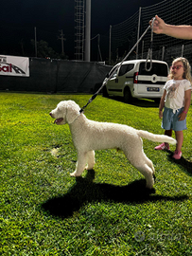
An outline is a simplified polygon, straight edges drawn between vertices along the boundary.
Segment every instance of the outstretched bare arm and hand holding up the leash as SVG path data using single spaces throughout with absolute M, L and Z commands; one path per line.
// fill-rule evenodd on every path
M 151 25 L 151 21 L 149 22 L 149 24 Z M 158 15 L 155 16 L 153 32 L 155 32 L 156 34 L 166 34 L 167 36 L 172 36 L 180 39 L 186 39 L 186 40 L 192 39 L 192 26 L 168 25 L 164 22 L 163 19 L 158 17 Z

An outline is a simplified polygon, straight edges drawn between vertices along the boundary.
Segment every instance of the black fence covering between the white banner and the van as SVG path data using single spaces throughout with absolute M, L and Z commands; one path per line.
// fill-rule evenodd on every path
M 0 76 L 0 90 L 94 93 L 111 68 L 98 63 L 30 58 L 30 76 Z

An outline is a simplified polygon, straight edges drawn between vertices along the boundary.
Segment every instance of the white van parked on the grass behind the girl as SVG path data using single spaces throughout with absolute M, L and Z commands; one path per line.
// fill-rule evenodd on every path
M 168 75 L 166 62 L 152 60 L 150 71 L 150 62 L 148 61 L 146 68 L 146 60 L 126 61 L 120 68 L 116 68 L 117 66 L 120 66 L 120 63 L 114 65 L 105 78 L 104 97 L 120 96 L 124 97 L 125 102 L 131 102 L 133 98 L 160 101 Z M 112 73 L 112 78 L 108 80 Z

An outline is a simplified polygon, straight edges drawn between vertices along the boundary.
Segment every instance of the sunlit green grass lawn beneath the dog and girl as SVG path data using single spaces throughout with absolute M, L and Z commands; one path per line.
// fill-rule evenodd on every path
M 144 139 L 155 193 L 121 152 L 96 152 L 95 170 L 70 177 L 77 155 L 68 125 L 49 112 L 89 95 L 0 93 L 0 255 L 192 255 L 192 106 L 183 158 L 172 161 Z M 89 119 L 163 134 L 152 101 L 97 96 Z M 174 151 L 174 146 L 171 146 Z

